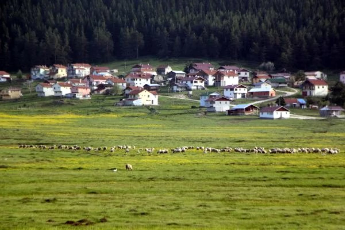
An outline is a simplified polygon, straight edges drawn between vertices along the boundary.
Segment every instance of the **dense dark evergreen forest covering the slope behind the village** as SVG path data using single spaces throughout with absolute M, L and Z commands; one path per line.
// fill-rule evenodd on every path
M 112 58 L 345 66 L 343 0 L 3 0 L 0 69 Z

